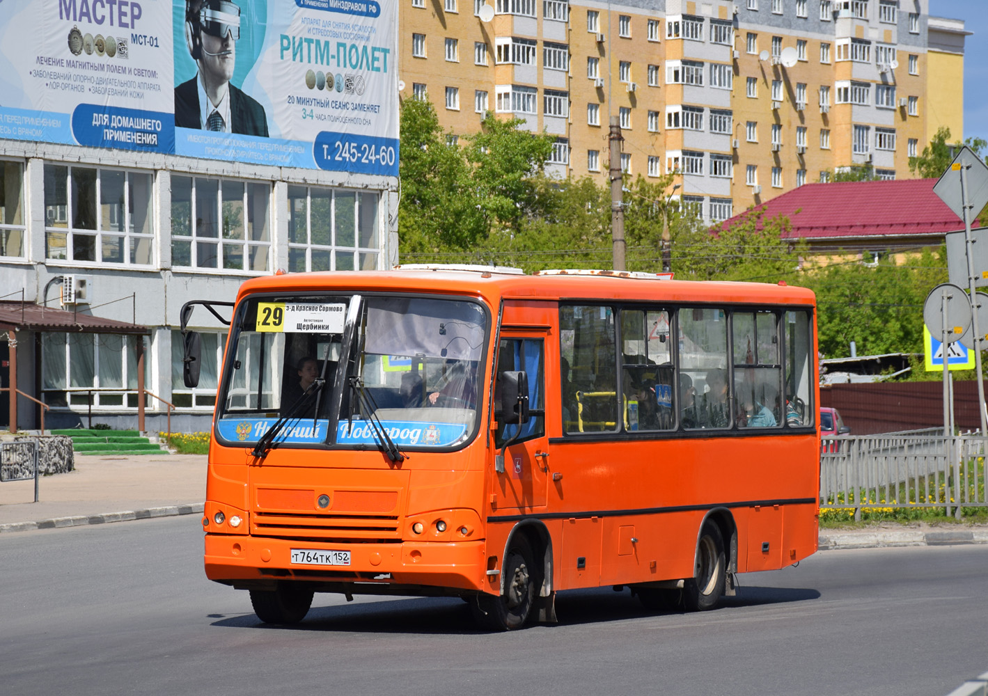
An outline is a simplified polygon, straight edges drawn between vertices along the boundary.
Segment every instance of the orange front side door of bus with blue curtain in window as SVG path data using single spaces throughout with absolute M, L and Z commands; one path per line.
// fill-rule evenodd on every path
M 521 425 L 497 424 L 493 494 L 498 509 L 544 507 L 548 487 L 548 439 L 545 436 L 545 341 L 542 336 L 502 335 L 498 347 L 497 373 L 524 370 L 529 377 L 529 421 Z M 495 389 L 495 408 L 500 394 Z M 512 440 L 512 437 L 518 436 Z M 508 446 L 505 447 L 505 443 Z

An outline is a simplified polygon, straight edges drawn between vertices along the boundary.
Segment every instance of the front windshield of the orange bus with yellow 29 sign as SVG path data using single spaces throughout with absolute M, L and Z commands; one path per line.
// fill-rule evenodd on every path
M 271 429 L 273 446 L 461 445 L 476 431 L 487 331 L 487 312 L 467 300 L 248 299 L 231 333 L 217 436 L 254 444 Z

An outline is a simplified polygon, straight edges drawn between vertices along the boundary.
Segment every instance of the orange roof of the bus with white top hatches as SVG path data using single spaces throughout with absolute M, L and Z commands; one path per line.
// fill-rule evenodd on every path
M 507 271 L 507 272 L 505 272 Z M 784 283 L 724 280 L 669 280 L 658 275 L 614 271 L 524 274 L 498 267 L 426 267 L 392 271 L 319 271 L 282 273 L 244 282 L 238 299 L 254 292 L 435 292 L 484 297 L 544 300 L 613 300 L 643 302 L 716 302 L 730 304 L 814 303 L 812 290 Z

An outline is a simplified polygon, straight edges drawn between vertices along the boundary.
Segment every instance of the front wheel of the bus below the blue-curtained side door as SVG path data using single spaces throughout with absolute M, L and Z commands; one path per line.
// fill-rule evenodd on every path
M 504 593 L 478 594 L 470 605 L 473 616 L 491 631 L 514 631 L 525 626 L 535 605 L 535 592 L 541 576 L 535 567 L 532 545 L 524 534 L 516 534 L 504 559 Z

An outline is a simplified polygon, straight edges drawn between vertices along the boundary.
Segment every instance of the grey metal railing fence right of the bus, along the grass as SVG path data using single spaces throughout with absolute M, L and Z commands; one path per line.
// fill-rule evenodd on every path
M 820 507 L 988 506 L 988 437 L 932 434 L 847 435 L 820 443 Z

